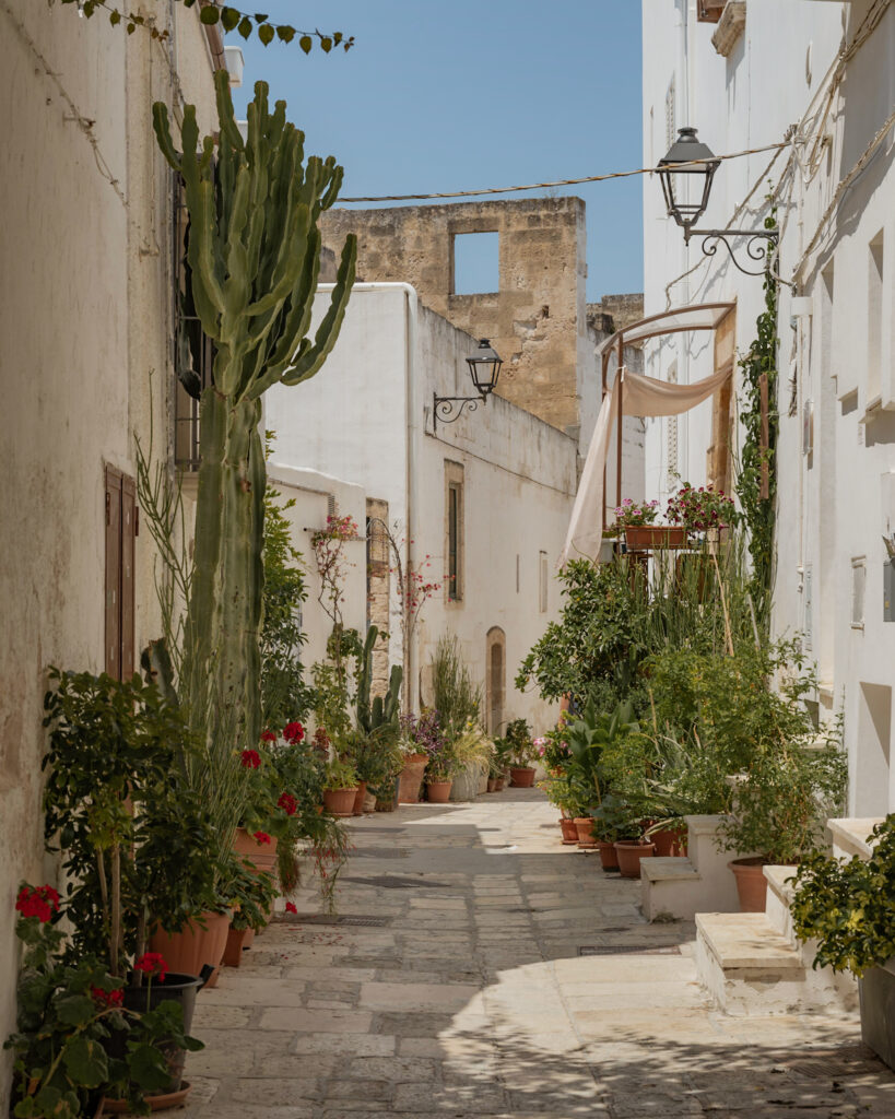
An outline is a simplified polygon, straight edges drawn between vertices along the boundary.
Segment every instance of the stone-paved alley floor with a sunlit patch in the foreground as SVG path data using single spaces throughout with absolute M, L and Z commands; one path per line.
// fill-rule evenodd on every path
M 190 1119 L 895 1117 L 856 1018 L 714 1010 L 693 925 L 644 923 L 537 790 L 352 829 L 342 923 L 275 922 L 199 997 Z

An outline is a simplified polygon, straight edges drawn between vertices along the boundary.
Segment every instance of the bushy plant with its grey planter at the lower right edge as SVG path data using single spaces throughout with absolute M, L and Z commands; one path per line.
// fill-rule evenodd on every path
M 814 967 L 858 978 L 864 1042 L 895 1069 L 895 815 L 877 824 L 867 859 L 814 852 L 795 873 L 795 934 L 817 941 Z

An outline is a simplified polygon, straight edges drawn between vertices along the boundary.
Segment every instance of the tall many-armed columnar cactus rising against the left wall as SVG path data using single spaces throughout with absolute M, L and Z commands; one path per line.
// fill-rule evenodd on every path
M 181 378 L 200 399 L 201 464 L 179 690 L 195 726 L 251 746 L 261 733 L 261 397 L 271 385 L 296 385 L 322 366 L 345 317 L 357 246 L 349 236 L 311 341 L 318 220 L 336 200 L 342 169 L 332 157 L 303 163 L 304 135 L 286 121 L 285 102 L 268 112 L 264 82 L 248 106 L 245 141 L 226 70 L 217 72 L 215 86 L 220 132 L 205 137 L 201 148 L 194 105 L 183 110 L 182 151 L 166 105 L 153 106 L 159 147 L 185 187 L 189 295 L 216 349 L 210 385 Z

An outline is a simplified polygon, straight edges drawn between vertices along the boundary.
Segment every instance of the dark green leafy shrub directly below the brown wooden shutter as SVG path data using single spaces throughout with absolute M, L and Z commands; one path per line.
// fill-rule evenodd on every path
M 121 976 L 153 922 L 177 929 L 215 904 L 211 824 L 185 779 L 199 746 L 139 676 L 49 676 L 47 845 L 63 855 L 73 950 L 104 956 Z

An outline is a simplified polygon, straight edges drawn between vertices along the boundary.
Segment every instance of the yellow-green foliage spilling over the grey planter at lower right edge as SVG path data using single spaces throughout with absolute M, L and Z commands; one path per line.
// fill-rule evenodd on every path
M 875 825 L 868 859 L 814 852 L 795 874 L 790 911 L 800 940 L 817 940 L 814 967 L 864 975 L 895 957 L 895 815 Z

